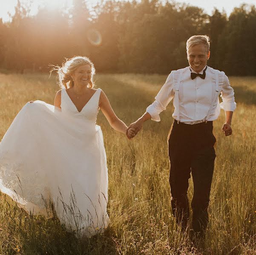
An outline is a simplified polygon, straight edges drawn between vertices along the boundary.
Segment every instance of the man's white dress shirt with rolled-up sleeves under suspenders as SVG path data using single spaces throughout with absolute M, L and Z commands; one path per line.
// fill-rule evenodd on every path
M 155 97 L 155 102 L 147 107 L 146 111 L 150 114 L 152 120 L 160 121 L 159 113 L 166 110 L 167 105 L 173 99 L 175 85 L 177 84 L 177 73 L 180 70 L 183 71 L 183 74 L 178 89 L 178 105 L 175 105 L 175 100 L 173 101 L 175 108 L 173 113 L 174 119 L 178 113 L 180 122 L 193 125 L 204 122 L 209 111 L 209 118 L 207 120 L 213 121 L 218 118 L 220 109 L 224 111 L 234 111 L 236 109 L 234 90 L 230 86 L 229 80 L 224 72 L 207 66 L 205 79 L 197 76 L 192 80 L 190 69 L 196 73 L 192 68 L 187 67 L 172 71 L 169 74 L 163 87 Z M 203 74 L 203 70 L 199 74 Z M 219 103 L 219 97 L 213 103 L 216 93 L 216 77 L 219 79 L 218 91 L 221 94 L 221 103 Z

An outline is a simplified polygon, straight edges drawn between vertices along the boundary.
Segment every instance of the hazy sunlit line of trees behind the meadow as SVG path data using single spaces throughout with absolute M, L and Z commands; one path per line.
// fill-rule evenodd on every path
M 242 4 L 229 17 L 196 6 L 158 0 L 107 0 L 88 8 L 40 8 L 18 1 L 12 21 L 0 20 L 0 68 L 48 71 L 64 58 L 89 57 L 100 72 L 168 74 L 187 66 L 186 41 L 210 36 L 208 64 L 229 75 L 256 75 L 256 7 Z

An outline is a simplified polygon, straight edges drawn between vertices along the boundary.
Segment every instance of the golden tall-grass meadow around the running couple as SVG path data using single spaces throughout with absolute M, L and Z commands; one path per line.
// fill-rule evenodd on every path
M 96 86 L 117 116 L 134 122 L 167 75 L 97 74 Z M 256 77 L 230 77 L 237 109 L 232 136 L 221 132 L 224 111 L 214 122 L 216 161 L 204 255 L 256 254 Z M 53 104 L 55 75 L 0 74 L 0 139 L 30 100 Z M 132 140 L 115 132 L 99 112 L 109 170 L 109 227 L 104 234 L 77 239 L 58 219 L 27 215 L 0 193 L 1 255 L 193 255 L 188 235 L 175 224 L 170 205 L 167 134 L 172 102 L 161 122 L 148 121 Z M 67 155 L 68 157 L 68 155 Z M 193 196 L 190 178 L 189 199 Z

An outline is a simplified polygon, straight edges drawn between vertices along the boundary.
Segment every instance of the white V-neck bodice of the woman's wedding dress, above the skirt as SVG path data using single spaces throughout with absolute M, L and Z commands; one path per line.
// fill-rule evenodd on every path
M 80 116 L 95 123 L 99 110 L 100 95 L 101 89 L 98 88 L 97 91 L 95 91 L 95 93 L 86 103 L 86 105 L 84 105 L 82 110 L 79 112 L 75 104 L 72 102 L 71 98 L 67 94 L 66 89 L 63 88 L 61 90 L 61 111 L 67 114 L 75 114 L 76 116 Z

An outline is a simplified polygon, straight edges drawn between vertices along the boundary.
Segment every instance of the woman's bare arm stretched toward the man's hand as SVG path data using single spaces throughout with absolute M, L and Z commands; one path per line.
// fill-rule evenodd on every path
M 118 117 L 115 115 L 115 113 L 109 103 L 109 100 L 107 99 L 106 94 L 103 91 L 101 91 L 99 107 L 101 108 L 101 111 L 105 115 L 110 126 L 112 128 L 114 128 L 116 131 L 125 134 L 127 125 L 125 125 L 125 123 L 122 122 L 121 119 L 118 119 Z

